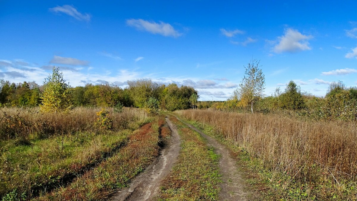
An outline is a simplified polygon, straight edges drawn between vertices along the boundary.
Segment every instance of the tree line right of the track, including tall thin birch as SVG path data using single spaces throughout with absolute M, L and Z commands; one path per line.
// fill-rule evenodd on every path
M 198 108 L 215 108 L 224 111 L 293 112 L 312 119 L 357 121 L 357 88 L 346 87 L 342 81 L 332 82 L 325 97 L 302 92 L 293 80 L 284 91 L 277 87 L 274 94 L 263 96 L 265 78 L 259 61 L 252 60 L 245 67 L 240 86 L 227 101 L 200 101 Z M 290 113 L 289 113 L 290 114 Z M 291 114 L 290 114 L 291 115 Z

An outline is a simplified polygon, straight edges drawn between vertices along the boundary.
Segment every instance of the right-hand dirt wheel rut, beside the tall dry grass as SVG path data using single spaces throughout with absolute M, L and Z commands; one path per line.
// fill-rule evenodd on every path
M 183 122 L 182 120 L 180 121 Z M 228 149 L 219 144 L 212 137 L 198 130 L 195 126 L 187 124 L 186 122 L 183 123 L 204 137 L 207 140 L 207 145 L 213 146 L 215 152 L 221 155 L 218 165 L 220 174 L 222 174 L 220 179 L 223 182 L 220 185 L 222 190 L 218 195 L 219 200 L 255 200 L 255 195 L 253 195 L 250 190 L 247 190 L 245 179 L 243 179 L 243 173 L 238 170 L 238 166 L 236 165 L 237 161 L 231 157 Z

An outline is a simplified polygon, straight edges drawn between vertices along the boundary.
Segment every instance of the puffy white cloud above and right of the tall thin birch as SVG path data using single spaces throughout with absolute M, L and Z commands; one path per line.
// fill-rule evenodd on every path
M 279 36 L 279 44 L 273 47 L 276 53 L 281 52 L 298 52 L 303 50 L 311 50 L 309 39 L 311 35 L 302 35 L 298 30 L 288 28 L 284 31 L 284 35 Z

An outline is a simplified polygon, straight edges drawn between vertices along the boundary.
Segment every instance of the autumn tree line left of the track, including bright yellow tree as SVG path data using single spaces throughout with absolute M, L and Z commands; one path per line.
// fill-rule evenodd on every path
M 35 82 L 10 83 L 0 79 L 0 106 L 35 107 L 57 112 L 77 106 L 100 107 L 142 107 L 150 110 L 188 109 L 196 104 L 198 92 L 191 86 L 177 86 L 175 83 L 159 85 L 151 79 L 142 78 L 127 81 L 121 88 L 109 82 L 71 87 L 63 79 L 59 68 L 42 86 Z M 190 99 L 191 98 L 191 99 Z M 193 100 L 195 99 L 195 100 Z M 51 111 L 53 110 L 53 111 Z

